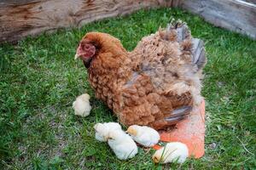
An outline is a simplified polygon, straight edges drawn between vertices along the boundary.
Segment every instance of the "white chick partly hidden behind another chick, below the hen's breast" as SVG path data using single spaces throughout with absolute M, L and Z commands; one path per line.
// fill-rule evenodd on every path
M 95 138 L 101 142 L 107 142 L 108 133 L 115 130 L 122 130 L 121 126 L 117 122 L 98 122 L 94 126 L 96 131 Z

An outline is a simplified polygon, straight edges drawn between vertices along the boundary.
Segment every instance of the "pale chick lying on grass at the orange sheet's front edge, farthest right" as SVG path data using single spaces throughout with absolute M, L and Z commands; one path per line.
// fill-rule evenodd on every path
M 186 144 L 181 142 L 171 142 L 166 144 L 160 150 L 156 150 L 152 159 L 155 163 L 177 162 L 183 163 L 189 156 L 189 150 Z

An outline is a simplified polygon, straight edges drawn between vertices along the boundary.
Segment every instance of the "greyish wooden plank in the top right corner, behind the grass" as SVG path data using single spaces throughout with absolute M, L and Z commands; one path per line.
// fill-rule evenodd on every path
M 256 2 L 242 0 L 181 0 L 179 6 L 200 14 L 215 26 L 256 39 Z

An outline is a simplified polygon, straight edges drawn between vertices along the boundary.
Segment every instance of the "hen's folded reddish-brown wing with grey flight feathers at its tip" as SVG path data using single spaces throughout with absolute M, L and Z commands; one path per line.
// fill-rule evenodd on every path
M 183 120 L 191 110 L 191 95 L 158 94 L 150 77 L 134 72 L 121 89 L 119 121 L 125 125 L 149 125 L 155 129 Z

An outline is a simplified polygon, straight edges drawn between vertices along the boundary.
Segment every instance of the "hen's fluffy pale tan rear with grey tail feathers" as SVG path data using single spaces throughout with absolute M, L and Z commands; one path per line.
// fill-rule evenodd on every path
M 158 94 L 189 91 L 195 101 L 200 100 L 198 72 L 207 59 L 203 42 L 191 37 L 188 26 L 169 25 L 164 31 L 144 37 L 131 59 L 137 60 L 138 70 L 150 77 Z

